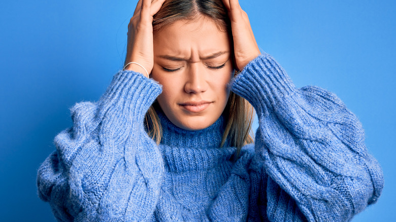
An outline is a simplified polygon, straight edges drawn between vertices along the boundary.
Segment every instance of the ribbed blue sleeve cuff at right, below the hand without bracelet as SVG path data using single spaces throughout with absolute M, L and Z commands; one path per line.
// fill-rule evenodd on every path
M 261 54 L 232 80 L 230 90 L 248 100 L 259 115 L 273 110 L 282 97 L 297 89 L 271 55 Z

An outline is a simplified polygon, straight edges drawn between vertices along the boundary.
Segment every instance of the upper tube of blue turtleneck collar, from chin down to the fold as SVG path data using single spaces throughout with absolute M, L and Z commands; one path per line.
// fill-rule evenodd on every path
M 208 128 L 185 130 L 173 124 L 162 110 L 156 111 L 162 126 L 161 144 L 199 149 L 220 147 L 226 125 L 223 115 Z M 227 145 L 226 142 L 224 146 Z

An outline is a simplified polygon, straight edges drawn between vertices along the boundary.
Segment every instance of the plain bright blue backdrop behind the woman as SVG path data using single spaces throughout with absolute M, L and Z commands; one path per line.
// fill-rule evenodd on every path
M 260 48 L 298 87 L 336 93 L 366 130 L 385 174 L 379 201 L 353 221 L 394 218 L 396 1 L 244 1 Z M 69 107 L 97 100 L 122 67 L 135 1 L 3 1 L 0 8 L 0 215 L 54 221 L 36 173 L 70 127 Z M 255 125 L 257 127 L 257 125 Z

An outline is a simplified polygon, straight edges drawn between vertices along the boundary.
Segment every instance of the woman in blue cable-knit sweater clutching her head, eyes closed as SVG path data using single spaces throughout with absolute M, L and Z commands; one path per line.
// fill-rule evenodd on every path
M 295 88 L 238 0 L 139 1 L 124 70 L 71 113 L 37 178 L 59 221 L 347 221 L 383 187 L 356 116 Z

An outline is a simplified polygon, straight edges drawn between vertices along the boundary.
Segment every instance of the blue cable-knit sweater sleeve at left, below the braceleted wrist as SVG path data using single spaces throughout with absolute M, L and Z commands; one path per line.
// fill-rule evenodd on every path
M 119 71 L 97 102 L 71 108 L 73 126 L 38 169 L 38 195 L 58 221 L 143 221 L 152 215 L 163 160 L 144 116 L 161 86 Z

